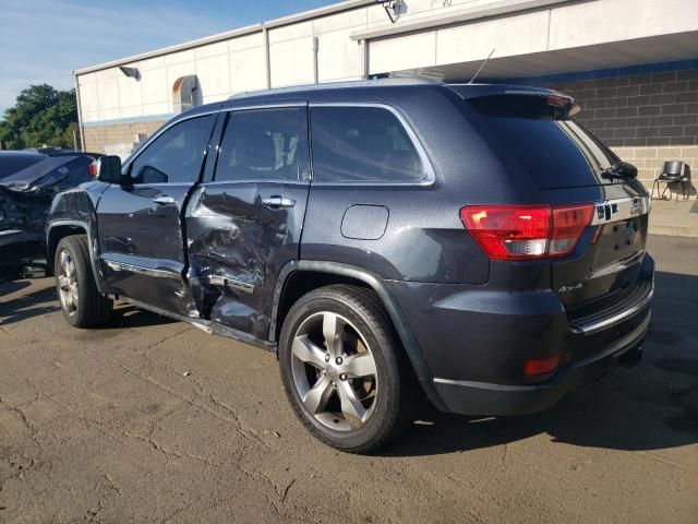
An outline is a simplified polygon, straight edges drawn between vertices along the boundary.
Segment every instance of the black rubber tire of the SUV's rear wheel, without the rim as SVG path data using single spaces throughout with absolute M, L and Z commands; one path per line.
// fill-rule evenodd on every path
M 326 421 L 318 420 L 305 408 L 294 381 L 291 347 L 299 327 L 306 325 L 304 322 L 308 319 L 325 312 L 348 320 L 351 329 L 356 329 L 359 336 L 365 340 L 375 362 L 376 391 L 371 401 L 371 415 L 358 428 L 338 431 L 328 427 Z M 348 360 L 349 357 L 346 358 Z M 414 398 L 420 396 L 421 391 L 387 312 L 370 289 L 333 285 L 301 297 L 289 311 L 281 329 L 279 367 L 284 389 L 296 416 L 315 438 L 338 450 L 362 454 L 373 452 L 398 437 L 414 419 L 414 407 L 419 405 Z M 346 385 L 346 374 L 341 380 Z M 337 386 L 335 382 L 332 384 L 335 390 L 342 385 L 339 381 Z

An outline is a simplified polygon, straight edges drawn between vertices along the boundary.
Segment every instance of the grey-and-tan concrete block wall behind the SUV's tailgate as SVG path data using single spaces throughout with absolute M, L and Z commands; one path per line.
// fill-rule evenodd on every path
M 683 160 L 698 177 L 698 70 L 549 84 L 574 96 L 577 120 L 651 187 L 665 160 Z

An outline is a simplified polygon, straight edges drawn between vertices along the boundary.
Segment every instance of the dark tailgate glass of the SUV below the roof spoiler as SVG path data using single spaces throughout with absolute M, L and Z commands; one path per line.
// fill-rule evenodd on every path
M 609 183 L 597 175 L 618 157 L 545 100 L 544 96 L 496 95 L 468 99 L 466 105 L 488 145 L 518 164 L 540 188 Z

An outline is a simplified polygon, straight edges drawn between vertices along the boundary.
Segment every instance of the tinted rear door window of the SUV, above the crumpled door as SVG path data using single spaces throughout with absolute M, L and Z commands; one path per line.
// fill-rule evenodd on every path
M 304 180 L 309 175 L 304 107 L 231 112 L 215 180 Z

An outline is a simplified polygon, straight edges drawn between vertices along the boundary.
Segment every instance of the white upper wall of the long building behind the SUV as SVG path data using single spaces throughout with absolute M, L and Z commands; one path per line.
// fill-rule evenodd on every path
M 351 38 L 352 34 L 378 27 L 399 28 L 464 9 L 527 3 L 529 0 L 407 0 L 407 8 L 394 25 L 382 7 L 371 3 L 273 26 L 268 29 L 270 86 L 313 82 L 314 37 L 318 46 L 317 80 L 352 80 L 364 72 L 363 46 Z M 125 64 L 139 69 L 140 80 L 124 76 L 117 67 L 79 74 L 83 123 L 167 117 L 174 110 L 172 86 L 183 75 L 197 76 L 204 103 L 267 87 L 264 33 L 261 27 L 250 31 Z M 368 72 L 473 62 L 484 59 L 493 48 L 495 59 L 502 59 L 682 32 L 698 32 L 696 0 L 563 3 L 371 40 Z

